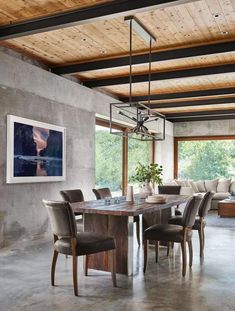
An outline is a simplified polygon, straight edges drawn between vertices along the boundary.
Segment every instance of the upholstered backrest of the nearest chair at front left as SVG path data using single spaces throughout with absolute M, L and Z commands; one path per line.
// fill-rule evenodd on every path
M 70 204 L 46 200 L 43 204 L 47 208 L 53 234 L 59 238 L 76 237 L 76 221 Z

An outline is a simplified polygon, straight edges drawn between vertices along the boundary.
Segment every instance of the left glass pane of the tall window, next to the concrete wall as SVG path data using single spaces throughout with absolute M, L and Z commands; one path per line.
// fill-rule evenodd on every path
M 99 125 L 96 125 L 96 187 L 108 187 L 116 195 L 122 192 L 122 138 Z

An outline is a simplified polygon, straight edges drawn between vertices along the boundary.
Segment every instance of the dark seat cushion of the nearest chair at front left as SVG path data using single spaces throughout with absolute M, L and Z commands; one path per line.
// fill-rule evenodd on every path
M 54 244 L 54 249 L 62 254 L 72 255 L 71 239 L 61 238 Z M 94 232 L 79 232 L 77 235 L 77 256 L 89 255 L 115 249 L 112 237 L 103 236 Z

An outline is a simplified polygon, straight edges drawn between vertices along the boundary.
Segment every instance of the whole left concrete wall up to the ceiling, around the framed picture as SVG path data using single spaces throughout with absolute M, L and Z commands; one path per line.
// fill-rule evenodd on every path
M 46 70 L 0 53 L 0 244 L 47 232 L 42 198 L 60 199 L 59 190 L 81 188 L 93 198 L 95 112 L 109 113 L 114 100 Z M 66 127 L 64 182 L 6 184 L 6 116 L 13 114 Z

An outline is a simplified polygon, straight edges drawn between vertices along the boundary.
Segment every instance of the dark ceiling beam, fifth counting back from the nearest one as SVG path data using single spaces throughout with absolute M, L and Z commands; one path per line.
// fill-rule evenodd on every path
M 235 96 L 230 98 L 210 98 L 204 100 L 190 100 L 190 101 L 180 101 L 174 103 L 159 103 L 148 105 L 152 109 L 161 108 L 178 108 L 187 106 L 206 106 L 206 105 L 217 105 L 217 104 L 235 104 Z

